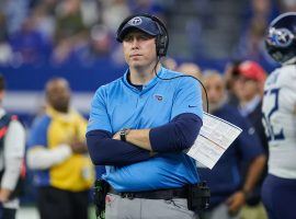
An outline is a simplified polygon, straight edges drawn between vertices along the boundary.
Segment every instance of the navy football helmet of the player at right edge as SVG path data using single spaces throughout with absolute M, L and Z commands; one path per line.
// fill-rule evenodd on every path
M 267 53 L 284 64 L 296 57 L 296 12 L 287 12 L 274 19 L 265 38 Z M 295 61 L 296 62 L 296 61 Z

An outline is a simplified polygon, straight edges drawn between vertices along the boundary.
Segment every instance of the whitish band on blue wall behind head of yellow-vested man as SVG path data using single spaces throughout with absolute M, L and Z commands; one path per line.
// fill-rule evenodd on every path
M 72 92 L 71 106 L 81 113 L 89 114 L 91 100 L 94 93 Z M 3 106 L 7 111 L 35 114 L 44 106 L 43 92 L 8 92 Z

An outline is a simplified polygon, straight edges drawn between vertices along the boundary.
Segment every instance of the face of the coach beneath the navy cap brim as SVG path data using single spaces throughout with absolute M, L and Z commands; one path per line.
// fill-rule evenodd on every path
M 140 31 L 130 31 L 123 41 L 125 60 L 130 68 L 145 68 L 155 64 L 156 38 Z

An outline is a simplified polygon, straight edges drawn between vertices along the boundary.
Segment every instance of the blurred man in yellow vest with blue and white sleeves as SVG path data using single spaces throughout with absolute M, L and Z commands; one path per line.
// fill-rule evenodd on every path
M 45 88 L 46 112 L 33 124 L 27 165 L 35 170 L 42 219 L 87 219 L 93 166 L 87 154 L 86 119 L 69 107 L 70 88 L 62 78 Z

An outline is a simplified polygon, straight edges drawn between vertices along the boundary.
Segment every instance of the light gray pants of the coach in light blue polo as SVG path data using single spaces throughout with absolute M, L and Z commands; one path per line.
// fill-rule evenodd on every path
M 118 195 L 106 195 L 106 219 L 197 219 L 198 217 L 187 209 L 187 200 L 175 198 L 143 199 L 122 198 Z

